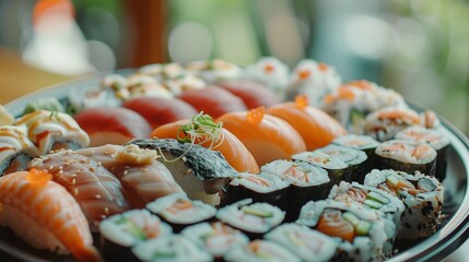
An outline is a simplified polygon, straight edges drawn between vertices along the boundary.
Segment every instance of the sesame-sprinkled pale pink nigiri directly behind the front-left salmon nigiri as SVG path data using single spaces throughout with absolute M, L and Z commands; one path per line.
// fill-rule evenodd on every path
M 62 150 L 35 158 L 28 166 L 50 172 L 79 202 L 93 230 L 107 216 L 129 209 L 119 180 L 94 159 Z

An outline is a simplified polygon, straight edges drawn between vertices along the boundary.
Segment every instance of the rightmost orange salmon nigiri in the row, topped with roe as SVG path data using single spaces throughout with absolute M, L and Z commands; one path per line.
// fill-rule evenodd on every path
M 306 96 L 296 96 L 295 103 L 286 102 L 272 106 L 267 112 L 294 127 L 305 141 L 308 151 L 326 146 L 335 138 L 347 133 L 336 119 L 308 106 Z

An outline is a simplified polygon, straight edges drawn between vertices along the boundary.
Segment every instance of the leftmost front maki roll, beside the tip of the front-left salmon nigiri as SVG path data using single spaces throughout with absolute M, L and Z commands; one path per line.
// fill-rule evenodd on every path
M 134 260 L 131 248 L 139 242 L 168 236 L 172 228 L 146 210 L 110 216 L 99 224 L 101 252 L 106 261 Z

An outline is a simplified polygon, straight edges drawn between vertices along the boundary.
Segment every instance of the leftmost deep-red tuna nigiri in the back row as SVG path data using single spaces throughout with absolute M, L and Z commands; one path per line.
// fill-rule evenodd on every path
M 151 131 L 143 117 L 127 108 L 89 108 L 74 118 L 90 135 L 90 146 L 125 144 L 132 139 L 148 138 Z

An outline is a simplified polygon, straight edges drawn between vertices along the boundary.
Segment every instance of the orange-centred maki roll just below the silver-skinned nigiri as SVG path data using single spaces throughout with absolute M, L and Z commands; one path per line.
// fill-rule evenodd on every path
M 146 209 L 168 223 L 176 233 L 187 226 L 210 221 L 216 214 L 215 207 L 178 193 L 160 198 L 146 204 Z

